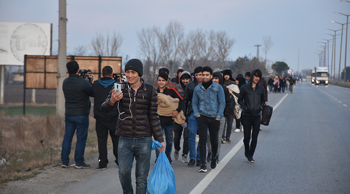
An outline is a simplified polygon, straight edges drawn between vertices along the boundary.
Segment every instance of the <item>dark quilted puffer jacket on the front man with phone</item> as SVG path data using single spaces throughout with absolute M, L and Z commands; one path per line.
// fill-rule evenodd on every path
M 116 135 L 127 137 L 149 137 L 153 135 L 158 142 L 164 142 L 157 113 L 158 95 L 156 88 L 153 87 L 151 101 L 148 102 L 147 87 L 143 79 L 141 81 L 136 96 L 129 83 L 123 82 L 123 98 L 114 106 L 109 105 L 109 99 L 112 95 L 112 91 L 110 91 L 107 99 L 101 105 L 101 110 L 108 112 L 113 110 L 115 106 L 119 107 L 120 115 L 117 121 Z

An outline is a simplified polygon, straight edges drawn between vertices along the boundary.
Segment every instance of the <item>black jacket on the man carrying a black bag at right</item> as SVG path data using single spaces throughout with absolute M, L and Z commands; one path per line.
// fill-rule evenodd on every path
M 251 75 L 254 75 L 255 71 L 252 71 Z M 265 103 L 265 91 L 264 88 L 256 84 L 255 92 L 252 87 L 254 76 L 250 77 L 250 82 L 244 84 L 241 87 L 240 94 L 238 96 L 238 103 L 243 109 L 243 115 L 256 116 L 261 115 L 262 106 Z M 247 108 L 247 110 L 245 110 Z

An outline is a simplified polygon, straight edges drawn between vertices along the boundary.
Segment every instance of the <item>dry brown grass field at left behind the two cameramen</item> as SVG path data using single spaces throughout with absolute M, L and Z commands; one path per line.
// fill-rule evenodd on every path
M 92 114 L 89 120 L 85 154 L 98 150 Z M 55 115 L 54 106 L 26 105 L 25 116 L 21 106 L 1 106 L 0 126 L 0 183 L 31 178 L 46 165 L 59 165 L 65 122 Z

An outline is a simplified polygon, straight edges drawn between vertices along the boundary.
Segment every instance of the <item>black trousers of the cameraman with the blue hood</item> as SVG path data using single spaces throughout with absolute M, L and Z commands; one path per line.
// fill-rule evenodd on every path
M 118 141 L 119 135 L 115 134 L 117 122 L 114 121 L 99 121 L 96 120 L 96 135 L 99 149 L 99 166 L 100 168 L 107 167 L 107 139 L 108 132 L 112 139 L 113 155 L 118 161 Z

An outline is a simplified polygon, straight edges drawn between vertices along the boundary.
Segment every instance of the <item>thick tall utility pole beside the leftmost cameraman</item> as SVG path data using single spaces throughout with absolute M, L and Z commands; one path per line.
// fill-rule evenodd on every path
M 59 0 L 58 11 L 58 58 L 57 58 L 57 92 L 56 92 L 56 115 L 64 116 L 65 99 L 62 84 L 67 77 L 67 12 L 66 0 Z

